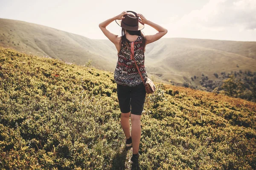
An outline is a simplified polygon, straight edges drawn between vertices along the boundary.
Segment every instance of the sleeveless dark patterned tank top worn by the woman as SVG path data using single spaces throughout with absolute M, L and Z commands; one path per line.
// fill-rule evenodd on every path
M 129 46 L 131 48 L 131 42 L 129 42 Z M 143 82 L 134 60 L 131 59 L 131 52 L 129 48 L 126 47 L 125 42 L 121 42 L 121 49 L 117 55 L 118 61 L 116 62 L 116 68 L 114 71 L 114 80 L 116 84 L 134 87 Z M 143 79 L 145 80 L 147 72 L 144 66 L 145 56 L 141 36 L 138 36 L 134 41 L 134 59 L 136 60 Z

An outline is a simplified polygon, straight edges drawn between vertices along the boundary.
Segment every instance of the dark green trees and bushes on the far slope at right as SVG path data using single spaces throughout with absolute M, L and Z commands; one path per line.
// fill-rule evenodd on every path
M 217 94 L 226 94 L 230 97 L 246 99 L 256 102 L 256 71 L 242 71 L 227 73 L 221 72 L 221 75 L 214 74 L 216 80 L 209 79 L 202 74 L 201 78 L 191 77 L 191 80 L 183 83 L 185 87 L 214 92 Z M 193 82 L 199 81 L 201 86 L 193 86 Z

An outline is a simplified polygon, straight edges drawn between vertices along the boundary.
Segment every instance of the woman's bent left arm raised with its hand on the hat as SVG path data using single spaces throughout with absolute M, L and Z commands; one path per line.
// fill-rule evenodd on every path
M 108 31 L 106 28 L 110 23 L 112 23 L 114 20 L 122 20 L 125 17 L 123 17 L 125 14 L 127 14 L 126 11 L 123 11 L 121 14 L 117 15 L 116 17 L 110 18 L 108 20 L 105 20 L 104 22 L 99 24 L 99 28 L 102 30 L 102 32 L 105 34 L 106 37 L 108 37 L 111 42 L 113 42 L 115 45 L 118 44 L 118 35 L 113 34 L 112 32 Z

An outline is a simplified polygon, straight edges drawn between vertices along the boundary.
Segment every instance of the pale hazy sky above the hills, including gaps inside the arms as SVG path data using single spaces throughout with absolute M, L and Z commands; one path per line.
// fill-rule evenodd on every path
M 107 39 L 99 23 L 135 11 L 168 30 L 163 38 L 256 41 L 256 0 L 0 0 L 0 18 Z M 107 26 L 121 35 L 115 21 Z M 144 34 L 157 31 L 145 25 Z

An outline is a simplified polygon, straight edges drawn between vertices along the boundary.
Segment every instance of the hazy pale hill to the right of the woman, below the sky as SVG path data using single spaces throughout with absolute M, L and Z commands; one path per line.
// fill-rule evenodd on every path
M 256 71 L 256 42 L 234 42 L 185 38 L 160 39 L 148 45 L 147 57 L 155 59 L 148 71 L 163 79 L 184 82 L 184 78 L 222 71 Z

